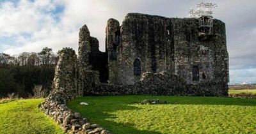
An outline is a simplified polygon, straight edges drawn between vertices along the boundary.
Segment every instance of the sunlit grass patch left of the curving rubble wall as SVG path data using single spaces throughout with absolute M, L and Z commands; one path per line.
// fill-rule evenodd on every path
M 0 103 L 0 133 L 63 133 L 58 124 L 38 108 L 44 99 Z

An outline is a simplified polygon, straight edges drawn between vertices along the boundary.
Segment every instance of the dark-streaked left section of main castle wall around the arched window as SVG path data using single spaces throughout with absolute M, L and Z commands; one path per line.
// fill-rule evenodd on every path
M 173 71 L 172 19 L 129 13 L 121 27 L 118 49 L 120 84 L 134 84 L 141 75 L 134 75 L 134 60 L 139 59 L 141 73 Z

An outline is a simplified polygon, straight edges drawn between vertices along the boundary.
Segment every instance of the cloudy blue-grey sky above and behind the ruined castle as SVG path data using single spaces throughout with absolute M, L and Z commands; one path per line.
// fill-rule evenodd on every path
M 1 0 L 0 52 L 39 52 L 50 47 L 77 51 L 79 28 L 84 24 L 104 50 L 109 18 L 120 24 L 129 12 L 188 17 L 197 0 Z M 205 1 L 209 2 L 209 1 Z M 256 1 L 219 0 L 214 17 L 226 23 L 230 83 L 256 83 Z

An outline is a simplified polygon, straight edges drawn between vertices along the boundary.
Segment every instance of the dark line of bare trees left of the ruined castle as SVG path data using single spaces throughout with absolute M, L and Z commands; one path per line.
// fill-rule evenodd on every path
M 49 93 L 57 61 L 58 56 L 48 47 L 17 56 L 0 53 L 0 97 L 10 93 L 23 98 L 33 96 L 33 88 L 38 85 Z

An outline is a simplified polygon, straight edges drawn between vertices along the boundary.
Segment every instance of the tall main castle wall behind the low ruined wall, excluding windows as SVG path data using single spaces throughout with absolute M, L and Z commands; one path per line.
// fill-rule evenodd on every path
M 214 20 L 214 36 L 199 38 L 198 19 L 176 19 L 129 13 L 120 29 L 117 63 L 109 66 L 110 82 L 134 84 L 144 72 L 172 72 L 188 84 L 228 82 L 225 24 Z M 106 30 L 108 33 L 108 29 Z M 110 45 L 109 41 L 106 41 Z M 140 60 L 140 75 L 134 61 Z M 117 65 L 118 64 L 118 65 Z M 193 80 L 198 68 L 199 80 Z M 116 77 L 117 76 L 117 77 Z

